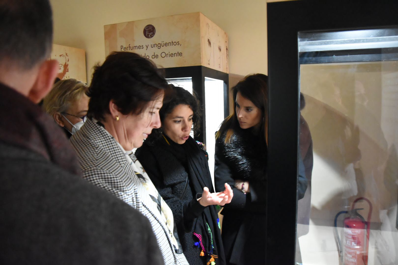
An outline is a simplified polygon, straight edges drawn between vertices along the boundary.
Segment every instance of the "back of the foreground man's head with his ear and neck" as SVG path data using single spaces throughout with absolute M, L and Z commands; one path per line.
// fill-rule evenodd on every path
M 39 103 L 59 66 L 47 60 L 53 42 L 49 0 L 0 0 L 0 34 L 0 83 Z

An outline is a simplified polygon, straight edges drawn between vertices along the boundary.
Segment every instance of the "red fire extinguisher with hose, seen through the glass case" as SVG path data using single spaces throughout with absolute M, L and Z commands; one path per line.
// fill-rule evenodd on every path
M 367 221 L 365 221 L 365 219 L 358 213 L 358 211 L 363 210 L 363 208 L 354 208 L 355 203 L 361 199 L 369 203 Z M 336 215 L 334 219 L 334 227 L 336 231 L 340 260 L 342 259 L 342 263 L 344 265 L 367 265 L 371 212 L 371 202 L 364 197 L 360 197 L 355 199 L 350 211 L 341 211 Z M 344 219 L 343 248 L 341 247 L 341 241 L 337 231 L 337 218 L 342 213 L 348 214 L 348 217 Z

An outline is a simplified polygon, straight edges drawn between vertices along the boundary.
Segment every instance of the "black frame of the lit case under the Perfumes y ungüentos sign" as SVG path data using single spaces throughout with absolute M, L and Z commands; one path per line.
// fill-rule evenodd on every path
M 192 77 L 192 90 L 196 94 L 202 110 L 199 132 L 195 131 L 194 138 L 206 144 L 205 77 L 224 81 L 224 118 L 226 118 L 229 112 L 228 74 L 205 66 L 171 67 L 164 68 L 164 70 L 166 72 L 166 78 Z

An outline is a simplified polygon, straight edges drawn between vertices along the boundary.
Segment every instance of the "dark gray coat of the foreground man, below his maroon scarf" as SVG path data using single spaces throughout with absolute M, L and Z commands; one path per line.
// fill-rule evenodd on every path
M 40 155 L 0 144 L 1 264 L 163 264 L 138 211 Z

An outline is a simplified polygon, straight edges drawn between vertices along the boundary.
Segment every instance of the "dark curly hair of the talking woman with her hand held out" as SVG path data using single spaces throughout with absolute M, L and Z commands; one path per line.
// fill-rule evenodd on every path
M 199 132 L 199 120 L 201 118 L 201 112 L 199 108 L 199 101 L 195 97 L 195 95 L 192 95 L 187 91 L 186 89 L 183 89 L 182 87 L 177 87 L 175 85 L 169 85 L 169 88 L 166 90 L 164 99 L 163 99 L 163 106 L 160 108 L 159 111 L 159 116 L 160 116 L 160 121 L 164 122 L 164 118 L 166 117 L 166 114 L 170 114 L 173 112 L 174 108 L 180 104 L 183 105 L 188 105 L 189 108 L 193 111 L 193 130 L 194 130 L 194 135 L 197 135 L 197 132 Z M 153 129 L 152 133 L 148 137 L 148 143 L 153 144 L 158 137 L 161 136 L 162 128 L 158 129 Z

